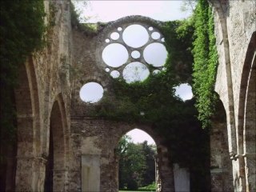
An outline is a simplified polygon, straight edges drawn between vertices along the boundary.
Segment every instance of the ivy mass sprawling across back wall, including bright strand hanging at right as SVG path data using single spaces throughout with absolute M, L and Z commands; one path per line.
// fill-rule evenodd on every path
M 208 2 L 198 1 L 191 18 L 166 22 L 161 31 L 169 54 L 166 70 L 150 74 L 144 82 L 127 84 L 122 79 L 113 80 L 114 99 L 105 95 L 95 115 L 153 126 L 165 138 L 170 162 L 190 167 L 191 173 L 198 175 L 194 189 L 206 190 L 202 187 L 207 187 L 204 179 L 209 174 L 209 134 L 202 127 L 210 128 L 218 63 Z M 190 101 L 182 102 L 174 95 L 174 86 L 183 82 L 193 84 L 195 97 Z

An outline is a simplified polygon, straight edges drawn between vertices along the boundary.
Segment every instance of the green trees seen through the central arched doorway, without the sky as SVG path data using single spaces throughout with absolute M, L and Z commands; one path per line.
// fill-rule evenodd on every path
M 123 190 L 138 190 L 154 182 L 153 146 L 147 142 L 134 144 L 130 137 L 124 135 L 118 142 L 119 157 L 119 188 Z

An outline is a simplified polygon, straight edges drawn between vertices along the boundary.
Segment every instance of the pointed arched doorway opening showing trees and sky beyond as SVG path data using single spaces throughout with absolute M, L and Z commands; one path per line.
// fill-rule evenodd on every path
M 156 190 L 157 146 L 149 134 L 130 130 L 118 142 L 116 153 L 119 190 Z

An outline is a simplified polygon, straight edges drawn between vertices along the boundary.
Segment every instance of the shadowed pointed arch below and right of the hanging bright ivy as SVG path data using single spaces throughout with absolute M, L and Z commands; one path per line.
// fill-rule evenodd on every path
M 229 155 L 226 111 L 218 99 L 210 130 L 211 191 L 233 191 L 232 162 Z

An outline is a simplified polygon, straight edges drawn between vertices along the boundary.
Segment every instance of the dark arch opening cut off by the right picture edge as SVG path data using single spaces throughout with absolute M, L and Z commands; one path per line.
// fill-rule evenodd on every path
M 256 190 L 256 32 L 252 34 L 246 52 L 246 59 L 242 71 L 241 91 L 239 98 L 238 137 L 244 157 L 246 191 Z

